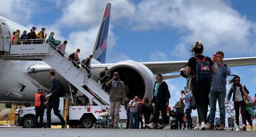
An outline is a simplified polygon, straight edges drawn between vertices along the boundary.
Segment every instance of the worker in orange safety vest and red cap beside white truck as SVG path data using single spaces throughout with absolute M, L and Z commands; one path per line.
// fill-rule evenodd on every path
M 38 89 L 38 93 L 35 93 L 35 120 L 34 120 L 34 127 L 35 128 L 42 128 L 43 127 L 43 114 L 45 112 L 45 95 L 43 88 Z M 39 124 L 38 124 L 38 117 L 39 117 Z

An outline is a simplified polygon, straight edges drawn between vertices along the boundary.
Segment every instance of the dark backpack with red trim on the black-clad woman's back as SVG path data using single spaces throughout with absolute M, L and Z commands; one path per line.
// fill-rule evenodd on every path
M 197 59 L 197 64 L 195 66 L 195 76 L 197 82 L 210 82 L 212 79 L 211 73 L 211 64 L 209 61 L 205 60 L 206 57 L 203 57 L 203 60 Z

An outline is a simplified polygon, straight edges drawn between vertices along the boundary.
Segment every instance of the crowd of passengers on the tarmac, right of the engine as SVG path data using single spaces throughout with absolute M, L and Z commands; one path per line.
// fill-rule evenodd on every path
M 226 127 L 225 105 L 229 105 L 229 100 L 233 94 L 234 109 L 231 111 L 235 111 L 236 114 L 236 130 L 246 131 L 246 123 L 248 122 L 250 125 L 249 131 L 252 131 L 252 120 L 256 118 L 256 94 L 253 99 L 245 85 L 241 84 L 241 78 L 233 75 L 233 79 L 229 80 L 231 88 L 228 96 L 226 96 L 226 79 L 231 75 L 231 71 L 228 65 L 223 63 L 224 53 L 218 51 L 213 58 L 205 57 L 201 41 L 195 42 L 190 51 L 193 53 L 193 57 L 181 69 L 181 75 L 186 78 L 187 84 L 185 90 L 181 92 L 181 98 L 174 105 L 174 109 L 171 110 L 168 105 L 169 95 L 163 90 L 164 88 L 160 88 L 161 85 L 168 88 L 168 85 L 163 81 L 161 74 L 158 74 L 152 100 L 135 96 L 134 99 L 127 102 L 127 125 L 129 125 L 127 128 L 144 128 L 143 118 L 146 128 L 161 128 L 157 124 L 161 121 L 163 127 L 168 129 L 224 130 Z M 202 72 L 205 74 L 202 74 Z M 206 76 L 207 73 L 208 76 Z M 161 99 L 156 100 L 156 98 Z M 220 109 L 220 124 L 218 124 L 218 127 L 215 125 L 216 101 L 218 101 Z M 210 106 L 209 114 L 208 106 Z M 195 126 L 192 124 L 192 109 L 197 109 L 198 114 L 198 123 Z M 174 110 L 175 115 L 172 116 L 171 112 Z M 242 125 L 239 120 L 240 112 Z M 159 115 L 162 115 L 161 120 Z M 171 123 L 170 117 L 175 119 L 174 128 L 172 128 L 173 123 Z M 182 124 L 184 124 L 183 128 Z

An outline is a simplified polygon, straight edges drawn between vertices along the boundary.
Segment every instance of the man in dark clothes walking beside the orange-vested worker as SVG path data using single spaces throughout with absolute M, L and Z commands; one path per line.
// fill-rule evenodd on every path
M 55 71 L 51 70 L 49 71 L 49 77 L 51 79 L 51 85 L 50 85 L 50 94 L 46 95 L 45 98 L 48 99 L 48 106 L 47 106 L 47 125 L 46 128 L 51 128 L 51 109 L 53 109 L 54 114 L 59 117 L 59 120 L 61 120 L 61 128 L 66 128 L 67 122 L 63 119 L 62 115 L 59 114 L 59 79 L 55 77 Z

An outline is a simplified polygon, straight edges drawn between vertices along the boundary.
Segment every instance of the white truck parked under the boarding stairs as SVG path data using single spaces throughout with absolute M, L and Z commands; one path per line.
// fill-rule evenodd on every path
M 110 112 L 110 106 L 69 106 L 69 103 L 65 103 L 66 98 L 59 98 L 59 112 L 64 117 L 65 104 L 67 104 L 67 124 L 80 126 L 83 128 L 92 128 L 100 115 L 104 113 L 103 110 Z M 68 100 L 67 100 L 68 101 Z M 46 102 L 47 108 L 47 102 Z M 35 107 L 28 107 L 16 110 L 18 115 L 18 126 L 24 128 L 33 128 L 35 120 Z M 64 118 L 65 119 L 65 118 Z M 121 106 L 119 109 L 119 119 L 121 122 L 125 122 L 126 109 Z M 46 109 L 43 117 L 43 123 L 47 123 Z M 53 110 L 51 111 L 51 125 L 60 125 L 61 121 L 54 114 Z

